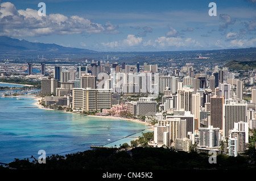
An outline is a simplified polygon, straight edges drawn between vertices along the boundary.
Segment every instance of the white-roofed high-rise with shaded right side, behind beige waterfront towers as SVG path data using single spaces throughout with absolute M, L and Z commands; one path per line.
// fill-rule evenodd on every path
M 188 132 L 195 132 L 194 115 L 189 111 L 174 111 L 174 115 L 166 116 L 166 120 L 180 118 L 180 138 L 188 137 Z

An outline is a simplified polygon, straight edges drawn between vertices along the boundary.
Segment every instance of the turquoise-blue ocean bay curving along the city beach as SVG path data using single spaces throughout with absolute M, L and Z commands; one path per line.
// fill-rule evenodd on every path
M 35 102 L 28 97 L 0 98 L 0 162 L 31 155 L 38 158 L 39 150 L 45 150 L 46 156 L 65 155 L 88 150 L 91 145 L 130 144 L 133 137 L 148 129 L 126 120 L 42 110 L 33 105 Z

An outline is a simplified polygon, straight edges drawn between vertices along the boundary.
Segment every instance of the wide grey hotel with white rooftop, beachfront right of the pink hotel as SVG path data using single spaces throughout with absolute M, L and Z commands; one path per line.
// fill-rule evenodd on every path
M 157 112 L 157 102 L 152 98 L 139 98 L 137 101 L 137 116 L 145 116 L 148 112 Z

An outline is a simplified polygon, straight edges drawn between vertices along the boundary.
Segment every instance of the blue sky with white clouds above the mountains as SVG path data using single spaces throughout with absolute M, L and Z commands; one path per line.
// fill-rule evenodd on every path
M 256 0 L 0 0 L 0 36 L 101 52 L 249 48 Z

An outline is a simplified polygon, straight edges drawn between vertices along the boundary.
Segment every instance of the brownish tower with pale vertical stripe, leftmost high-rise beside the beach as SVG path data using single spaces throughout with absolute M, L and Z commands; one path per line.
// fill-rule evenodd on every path
M 56 95 L 56 88 L 58 87 L 58 81 L 55 79 L 42 79 L 41 81 L 41 94 L 42 95 Z

